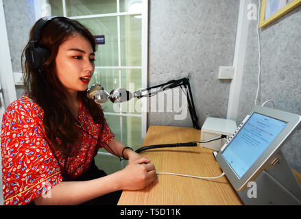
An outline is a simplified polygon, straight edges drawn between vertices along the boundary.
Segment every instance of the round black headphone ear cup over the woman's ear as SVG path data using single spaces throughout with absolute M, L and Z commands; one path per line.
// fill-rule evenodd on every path
M 27 47 L 25 50 L 26 60 L 32 68 L 42 68 L 49 56 L 50 52 L 43 47 Z

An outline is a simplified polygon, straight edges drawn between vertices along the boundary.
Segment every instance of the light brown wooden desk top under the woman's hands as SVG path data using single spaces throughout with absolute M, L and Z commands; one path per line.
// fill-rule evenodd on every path
M 186 127 L 149 127 L 142 146 L 200 141 L 200 130 Z M 177 147 L 142 151 L 156 166 L 156 172 L 173 172 L 199 177 L 217 177 L 222 171 L 213 151 L 197 147 Z M 118 205 L 243 205 L 223 176 L 195 179 L 158 175 L 158 182 L 139 191 L 123 191 Z

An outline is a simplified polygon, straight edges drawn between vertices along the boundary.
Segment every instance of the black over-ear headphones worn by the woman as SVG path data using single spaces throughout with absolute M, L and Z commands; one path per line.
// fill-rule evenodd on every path
M 53 18 L 56 17 L 58 16 L 46 16 L 40 19 L 40 21 L 38 21 L 36 27 L 34 28 L 32 40 L 29 41 L 29 45 L 25 50 L 27 63 L 29 64 L 29 66 L 32 66 L 32 68 L 42 68 L 51 54 L 48 49 L 42 47 L 38 43 L 38 40 L 40 40 L 43 28 L 47 25 L 47 23 L 49 23 Z

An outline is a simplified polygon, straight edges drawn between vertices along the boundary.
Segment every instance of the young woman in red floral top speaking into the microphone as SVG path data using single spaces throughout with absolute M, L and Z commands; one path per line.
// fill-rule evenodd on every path
M 116 205 L 121 190 L 154 182 L 154 164 L 115 140 L 101 107 L 86 96 L 95 68 L 91 32 L 69 18 L 51 18 L 37 43 L 49 57 L 38 68 L 25 60 L 27 92 L 3 115 L 4 205 Z M 129 159 L 128 166 L 111 175 L 98 170 L 100 147 Z

